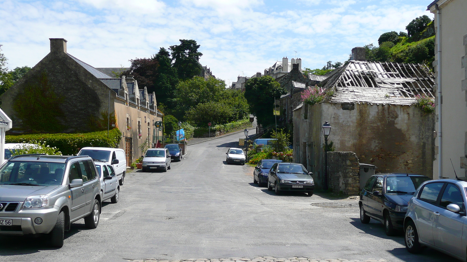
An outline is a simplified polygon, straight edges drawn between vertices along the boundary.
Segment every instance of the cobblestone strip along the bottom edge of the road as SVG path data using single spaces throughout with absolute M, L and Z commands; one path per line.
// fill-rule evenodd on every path
M 344 259 L 344 258 L 325 258 L 325 257 L 289 257 L 289 258 L 276 258 L 273 256 L 255 256 L 253 258 L 248 257 L 229 257 L 229 258 L 190 258 L 181 260 L 160 260 L 156 258 L 147 259 L 126 259 L 130 262 L 389 262 L 385 259 Z

